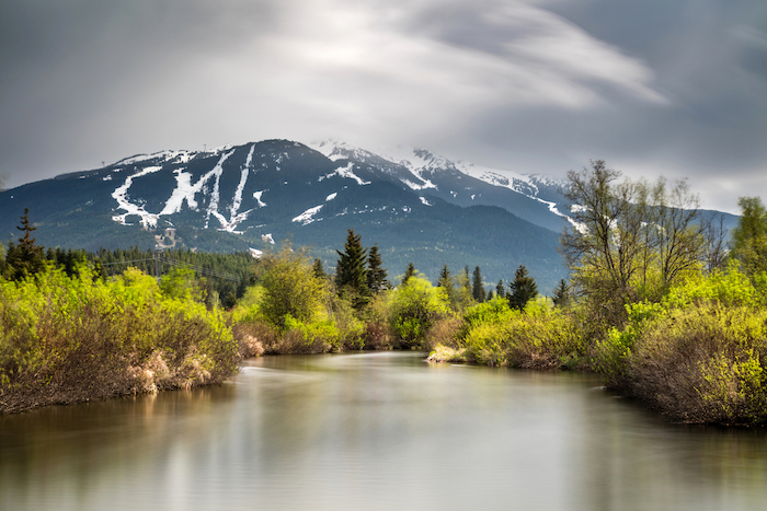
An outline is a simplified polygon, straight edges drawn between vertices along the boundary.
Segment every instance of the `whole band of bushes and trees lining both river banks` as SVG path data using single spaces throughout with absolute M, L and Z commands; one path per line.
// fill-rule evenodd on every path
M 631 182 L 596 161 L 564 193 L 571 277 L 551 297 L 524 266 L 496 286 L 468 266 L 445 266 L 434 284 L 412 264 L 389 279 L 378 247 L 350 230 L 333 275 L 289 245 L 232 256 L 247 268 L 221 300 L 190 266 L 157 279 L 46 257 L 25 212 L 24 239 L 0 259 L 0 414 L 220 383 L 247 357 L 417 349 L 432 362 L 596 372 L 674 421 L 765 425 L 760 199 L 741 199 L 728 243 L 686 182 Z

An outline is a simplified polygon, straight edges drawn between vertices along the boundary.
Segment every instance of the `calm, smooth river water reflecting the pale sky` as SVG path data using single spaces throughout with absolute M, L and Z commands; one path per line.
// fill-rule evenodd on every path
M 266 357 L 225 385 L 0 417 L 4 510 L 767 509 L 767 434 L 593 376 Z

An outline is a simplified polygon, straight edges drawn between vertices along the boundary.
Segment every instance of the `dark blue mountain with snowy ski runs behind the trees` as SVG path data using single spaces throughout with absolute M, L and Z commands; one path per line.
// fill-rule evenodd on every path
M 393 154 L 393 155 L 392 155 Z M 334 266 L 347 229 L 378 244 L 390 272 L 482 268 L 488 283 L 524 264 L 542 289 L 564 270 L 556 182 L 449 161 L 417 149 L 265 140 L 163 151 L 0 194 L 0 240 L 24 208 L 47 246 L 266 249 L 291 239 Z

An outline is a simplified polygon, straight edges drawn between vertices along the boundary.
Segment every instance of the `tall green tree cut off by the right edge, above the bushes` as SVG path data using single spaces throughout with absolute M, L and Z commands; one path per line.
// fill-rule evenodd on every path
M 731 255 L 746 275 L 767 271 L 767 209 L 758 197 L 741 197 L 741 218 L 732 230 Z

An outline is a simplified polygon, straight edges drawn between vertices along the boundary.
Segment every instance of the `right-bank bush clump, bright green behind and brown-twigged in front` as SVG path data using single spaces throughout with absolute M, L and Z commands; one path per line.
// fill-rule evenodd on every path
M 661 303 L 627 306 L 596 346 L 608 386 L 688 422 L 767 421 L 767 311 L 759 276 L 736 264 L 695 275 Z

